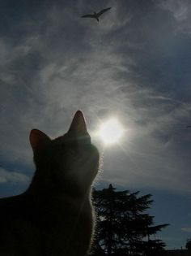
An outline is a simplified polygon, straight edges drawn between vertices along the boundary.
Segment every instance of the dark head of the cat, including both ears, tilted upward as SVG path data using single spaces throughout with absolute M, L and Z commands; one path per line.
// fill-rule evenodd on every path
M 91 145 L 81 111 L 75 113 L 69 131 L 63 136 L 52 140 L 44 132 L 33 129 L 30 143 L 36 163 L 36 180 L 42 186 L 46 182 L 51 187 L 74 194 L 90 189 L 98 171 L 99 153 Z

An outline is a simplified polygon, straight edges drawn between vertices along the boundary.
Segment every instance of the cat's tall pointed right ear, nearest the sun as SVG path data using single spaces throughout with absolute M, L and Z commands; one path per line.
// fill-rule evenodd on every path
M 68 132 L 76 132 L 76 133 L 83 133 L 87 132 L 87 125 L 86 121 L 83 116 L 82 111 L 77 111 L 74 115 L 74 119 L 70 125 L 70 129 Z

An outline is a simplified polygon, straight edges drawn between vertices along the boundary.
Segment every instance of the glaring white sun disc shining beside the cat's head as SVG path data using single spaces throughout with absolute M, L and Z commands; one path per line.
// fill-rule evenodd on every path
M 98 136 L 101 137 L 105 145 L 119 141 L 124 130 L 117 119 L 109 119 L 100 126 Z

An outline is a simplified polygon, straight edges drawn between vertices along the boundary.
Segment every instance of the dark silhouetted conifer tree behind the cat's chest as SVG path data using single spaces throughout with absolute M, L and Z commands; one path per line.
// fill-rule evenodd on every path
M 154 216 L 145 213 L 150 208 L 151 194 L 108 189 L 93 191 L 96 206 L 95 255 L 157 255 L 165 244 L 151 239 L 168 224 L 154 226 Z

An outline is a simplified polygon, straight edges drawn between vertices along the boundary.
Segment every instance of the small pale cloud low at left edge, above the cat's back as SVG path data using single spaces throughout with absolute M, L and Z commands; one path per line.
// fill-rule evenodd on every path
M 0 167 L 0 184 L 28 184 L 29 177 L 17 171 L 8 171 Z

